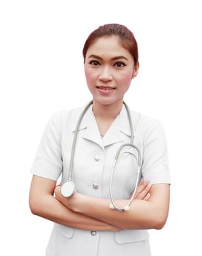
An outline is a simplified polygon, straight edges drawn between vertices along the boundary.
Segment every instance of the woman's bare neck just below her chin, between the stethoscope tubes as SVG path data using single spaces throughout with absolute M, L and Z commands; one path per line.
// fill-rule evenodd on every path
M 109 105 L 102 105 L 93 100 L 93 113 L 96 118 L 115 119 L 123 107 L 123 100 Z

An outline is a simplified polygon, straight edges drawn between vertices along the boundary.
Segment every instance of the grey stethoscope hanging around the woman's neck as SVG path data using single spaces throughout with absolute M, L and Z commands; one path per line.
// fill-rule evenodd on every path
M 78 131 L 79 131 L 79 126 L 81 124 L 82 118 L 83 118 L 83 116 L 85 116 L 86 111 L 88 110 L 88 108 L 92 104 L 93 104 L 93 101 L 90 101 L 88 103 L 88 105 L 86 105 L 84 110 L 82 110 L 82 113 L 79 116 L 79 119 L 77 121 L 77 127 L 76 127 L 75 132 L 74 132 L 74 139 L 73 139 L 73 144 L 72 144 L 72 148 L 71 148 L 71 158 L 70 158 L 70 164 L 69 164 L 69 176 L 68 176 L 68 179 L 61 184 L 61 195 L 63 195 L 63 197 L 71 197 L 71 195 L 74 195 L 74 192 L 75 192 L 75 184 L 74 184 L 74 181 L 72 181 L 72 176 L 73 176 L 74 154 L 75 154 L 75 148 L 76 148 L 76 143 L 77 143 L 77 134 L 78 134 Z M 138 186 L 138 183 L 139 183 L 139 176 L 140 176 L 140 173 L 141 173 L 141 153 L 140 153 L 139 148 L 133 144 L 134 132 L 133 132 L 133 123 L 131 121 L 131 113 L 130 113 L 130 110 L 128 108 L 128 105 L 126 105 L 125 102 L 123 102 L 123 104 L 125 105 L 125 109 L 126 109 L 127 115 L 128 115 L 128 121 L 129 121 L 130 128 L 131 128 L 131 141 L 130 141 L 130 143 L 124 143 L 123 145 L 120 146 L 120 148 L 117 151 L 117 154 L 115 155 L 114 164 L 112 166 L 112 175 L 111 175 L 110 184 L 109 184 L 109 193 L 110 193 L 110 198 L 111 198 L 111 203 L 109 204 L 109 208 L 116 209 L 117 211 L 128 211 L 129 210 L 129 206 L 131 205 L 131 202 L 132 202 L 132 200 L 133 200 L 133 198 L 136 194 L 136 189 L 137 189 L 137 186 Z M 137 161 L 137 165 L 138 165 L 138 172 L 137 172 L 137 178 L 136 178 L 136 186 L 133 190 L 133 194 L 131 196 L 131 199 L 128 200 L 128 203 L 125 206 L 119 207 L 119 206 L 116 206 L 115 203 L 114 203 L 114 198 L 113 198 L 113 195 L 112 195 L 112 183 L 113 183 L 113 177 L 114 177 L 114 170 L 115 170 L 117 160 L 118 160 L 119 155 L 120 155 L 120 151 L 126 146 L 131 146 L 132 148 L 135 148 L 136 151 L 137 151 L 137 154 L 138 154 L 137 158 L 136 158 L 136 155 L 133 154 L 132 152 L 127 151 L 125 153 L 132 154 L 133 157 L 135 157 L 135 159 Z

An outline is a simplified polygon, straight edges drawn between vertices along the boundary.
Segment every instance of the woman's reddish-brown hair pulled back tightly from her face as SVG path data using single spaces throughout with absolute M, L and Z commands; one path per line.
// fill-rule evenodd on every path
M 134 64 L 136 66 L 139 54 L 138 45 L 133 33 L 126 28 L 126 26 L 120 24 L 105 24 L 104 26 L 99 26 L 98 29 L 94 30 L 85 41 L 84 48 L 82 50 L 83 58 L 85 61 L 85 56 L 88 48 L 96 42 L 100 37 L 117 36 L 120 39 L 120 44 L 128 50 L 133 56 Z

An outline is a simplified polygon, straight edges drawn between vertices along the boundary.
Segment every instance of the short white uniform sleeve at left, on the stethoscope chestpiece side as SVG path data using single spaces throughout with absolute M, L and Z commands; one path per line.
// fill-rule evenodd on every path
M 31 165 L 31 173 L 57 181 L 62 170 L 61 118 L 59 113 L 54 113 L 44 129 L 34 162 Z

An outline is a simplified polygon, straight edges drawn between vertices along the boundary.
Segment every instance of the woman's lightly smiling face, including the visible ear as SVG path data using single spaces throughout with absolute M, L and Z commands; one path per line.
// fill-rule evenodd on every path
M 110 105 L 123 97 L 137 75 L 133 56 L 120 45 L 118 37 L 101 37 L 88 48 L 85 76 L 93 102 Z

